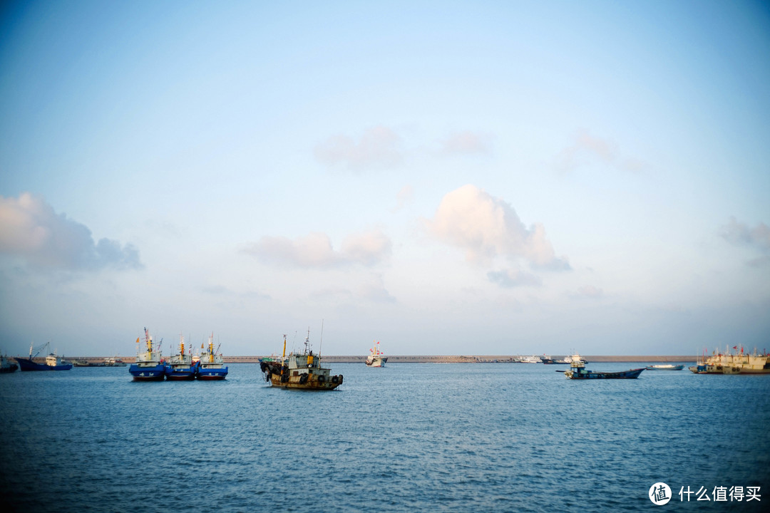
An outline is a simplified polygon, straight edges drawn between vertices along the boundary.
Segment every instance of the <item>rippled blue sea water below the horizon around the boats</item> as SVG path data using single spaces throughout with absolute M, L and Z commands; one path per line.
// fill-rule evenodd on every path
M 644 366 L 589 364 L 592 370 Z M 768 511 L 770 376 L 337 364 L 336 391 L 0 375 L 2 511 Z M 668 505 L 648 498 L 671 488 Z M 760 501 L 679 491 L 760 487 Z M 702 498 L 702 494 L 701 494 Z

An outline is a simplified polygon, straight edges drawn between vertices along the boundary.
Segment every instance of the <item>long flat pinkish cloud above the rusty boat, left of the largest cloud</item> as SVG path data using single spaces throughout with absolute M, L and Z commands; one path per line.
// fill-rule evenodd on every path
M 333 268 L 346 265 L 375 265 L 390 255 L 392 243 L 380 230 L 371 230 L 345 238 L 340 251 L 332 247 L 323 233 L 306 237 L 263 237 L 244 249 L 249 255 L 277 265 L 300 268 Z

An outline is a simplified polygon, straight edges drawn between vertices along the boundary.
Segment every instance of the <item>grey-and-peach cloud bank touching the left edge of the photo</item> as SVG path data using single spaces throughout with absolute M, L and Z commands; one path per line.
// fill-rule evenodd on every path
M 94 242 L 85 225 L 56 214 L 42 198 L 26 192 L 18 198 L 0 196 L 0 252 L 37 268 L 142 268 L 133 245 L 108 238 Z

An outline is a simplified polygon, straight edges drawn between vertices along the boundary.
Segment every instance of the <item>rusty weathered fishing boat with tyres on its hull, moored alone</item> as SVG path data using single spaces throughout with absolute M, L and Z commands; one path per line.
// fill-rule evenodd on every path
M 313 355 L 313 350 L 310 348 L 310 329 L 307 330 L 303 352 L 292 352 L 287 357 L 286 335 L 283 335 L 281 359 L 260 358 L 259 368 L 265 373 L 265 381 L 278 388 L 333 390 L 343 382 L 343 375 L 332 376 L 331 369 L 321 367 L 320 354 Z

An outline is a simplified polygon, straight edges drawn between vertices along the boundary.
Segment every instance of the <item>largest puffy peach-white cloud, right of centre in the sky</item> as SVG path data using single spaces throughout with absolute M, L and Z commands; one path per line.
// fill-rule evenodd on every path
M 543 225 L 525 227 L 511 205 L 474 185 L 464 185 L 445 195 L 426 226 L 434 237 L 464 249 L 468 261 L 485 264 L 503 257 L 523 259 L 531 267 L 544 270 L 570 268 L 565 258 L 554 255 Z M 500 275 L 493 276 L 498 282 L 502 280 Z

